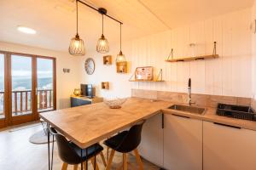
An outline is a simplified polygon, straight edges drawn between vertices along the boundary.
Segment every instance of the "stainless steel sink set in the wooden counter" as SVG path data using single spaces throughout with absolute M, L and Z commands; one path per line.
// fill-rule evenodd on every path
M 189 106 L 189 105 L 172 105 L 168 109 L 176 110 L 176 111 L 184 111 L 193 114 L 203 115 L 206 111 L 205 108 Z

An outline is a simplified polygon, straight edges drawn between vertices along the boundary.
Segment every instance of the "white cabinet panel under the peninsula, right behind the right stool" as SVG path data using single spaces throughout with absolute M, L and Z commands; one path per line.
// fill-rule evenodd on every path
M 143 125 L 142 141 L 138 146 L 141 156 L 155 165 L 163 165 L 162 115 L 153 116 Z

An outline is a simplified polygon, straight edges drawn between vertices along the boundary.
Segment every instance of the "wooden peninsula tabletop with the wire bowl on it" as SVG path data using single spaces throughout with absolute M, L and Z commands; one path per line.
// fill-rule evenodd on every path
M 109 109 L 104 103 L 97 103 L 44 112 L 40 117 L 79 147 L 85 148 L 160 113 L 168 106 L 170 103 L 166 101 L 130 98 L 121 109 Z

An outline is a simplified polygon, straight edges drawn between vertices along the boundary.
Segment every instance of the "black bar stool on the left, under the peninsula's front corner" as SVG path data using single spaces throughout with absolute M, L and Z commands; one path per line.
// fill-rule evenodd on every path
M 63 165 L 61 170 L 67 170 L 68 164 L 73 165 L 73 169 L 77 170 L 80 163 L 83 163 L 83 167 L 86 170 L 85 161 L 90 160 L 95 170 L 98 170 L 96 159 L 94 156 L 101 154 L 102 161 L 106 166 L 106 161 L 103 156 L 103 147 L 100 144 L 93 144 L 88 148 L 81 149 L 78 145 L 73 142 L 67 141 L 67 139 L 61 134 L 57 133 L 54 127 L 49 127 L 49 133 L 53 134 L 58 145 L 58 152 Z

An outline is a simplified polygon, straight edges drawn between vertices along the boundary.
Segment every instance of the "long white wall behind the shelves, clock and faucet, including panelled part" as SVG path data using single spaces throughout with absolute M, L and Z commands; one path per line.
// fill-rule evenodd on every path
M 97 87 L 102 81 L 110 82 L 110 90 L 98 89 L 99 95 L 109 97 L 129 96 L 131 88 L 187 92 L 191 77 L 192 93 L 195 94 L 252 97 L 251 14 L 251 8 L 247 8 L 126 42 L 123 52 L 131 62 L 131 71 L 137 66 L 154 66 L 156 72 L 163 69 L 166 82 L 128 82 L 131 73 L 115 73 L 115 65 L 102 65 L 102 54 L 97 53 L 86 55 L 96 60 L 96 73 L 88 76 L 83 71 L 83 82 Z M 196 44 L 196 55 L 212 54 L 214 41 L 218 42 L 219 59 L 172 64 L 164 61 L 171 48 L 174 48 L 175 57 L 191 55 L 189 43 Z M 113 48 L 109 54 L 115 56 L 118 52 Z

